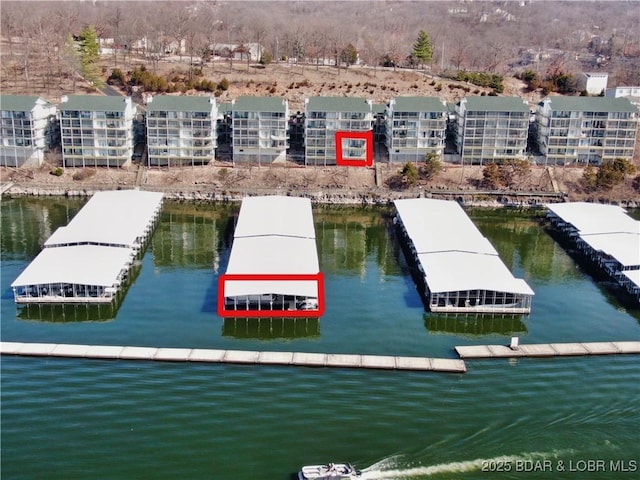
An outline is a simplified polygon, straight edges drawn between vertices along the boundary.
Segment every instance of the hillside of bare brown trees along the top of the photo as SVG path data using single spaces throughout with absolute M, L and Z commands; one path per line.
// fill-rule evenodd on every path
M 640 84 L 640 15 L 633 1 L 4 0 L 0 19 L 5 86 L 73 77 L 82 67 L 74 39 L 87 26 L 115 47 L 110 66 L 125 69 L 136 55 L 152 66 L 170 53 L 206 63 L 213 44 L 259 43 L 263 63 L 530 70 L 542 78 L 602 70 L 610 85 Z M 431 43 L 428 61 L 412 55 L 420 31 Z

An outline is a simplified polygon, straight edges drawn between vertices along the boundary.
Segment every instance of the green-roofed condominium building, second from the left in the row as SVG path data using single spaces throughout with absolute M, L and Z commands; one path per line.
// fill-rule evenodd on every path
M 62 97 L 60 134 L 65 167 L 122 167 L 133 155 L 131 97 Z

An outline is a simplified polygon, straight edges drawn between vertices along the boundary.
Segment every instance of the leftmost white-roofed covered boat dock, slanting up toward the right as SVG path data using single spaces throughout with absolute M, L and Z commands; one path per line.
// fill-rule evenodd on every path
M 162 194 L 96 193 L 11 284 L 19 304 L 111 303 L 129 277 L 162 206 Z

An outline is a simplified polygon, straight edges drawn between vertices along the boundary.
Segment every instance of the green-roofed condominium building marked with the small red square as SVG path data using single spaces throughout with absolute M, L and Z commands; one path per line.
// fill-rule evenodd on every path
M 372 124 L 371 100 L 357 97 L 306 98 L 306 165 L 336 165 L 336 134 L 370 132 Z M 364 140 L 345 138 L 345 141 L 344 157 L 356 159 L 358 155 L 365 155 Z

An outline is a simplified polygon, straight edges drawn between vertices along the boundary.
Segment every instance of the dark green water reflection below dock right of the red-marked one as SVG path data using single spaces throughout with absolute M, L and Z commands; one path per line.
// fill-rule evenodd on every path
M 527 327 L 519 315 L 425 314 L 424 325 L 430 333 L 460 336 L 527 333 Z

